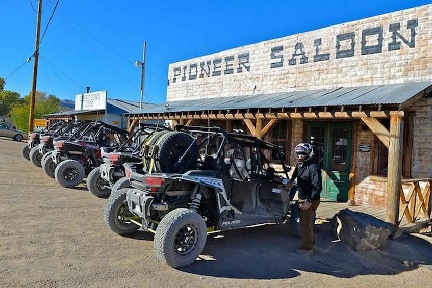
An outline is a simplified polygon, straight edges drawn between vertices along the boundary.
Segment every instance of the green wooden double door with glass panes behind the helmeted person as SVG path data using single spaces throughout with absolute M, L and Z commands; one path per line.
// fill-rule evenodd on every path
M 352 153 L 351 122 L 309 122 L 307 141 L 322 172 L 321 197 L 348 201 L 349 170 Z

